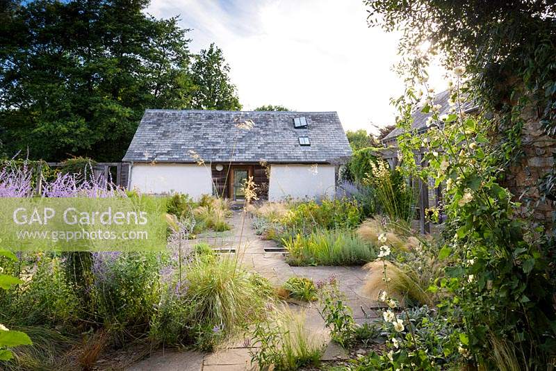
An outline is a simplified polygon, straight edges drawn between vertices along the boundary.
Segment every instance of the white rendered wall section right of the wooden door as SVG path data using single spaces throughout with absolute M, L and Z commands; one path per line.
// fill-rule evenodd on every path
M 270 165 L 269 201 L 334 196 L 334 165 Z

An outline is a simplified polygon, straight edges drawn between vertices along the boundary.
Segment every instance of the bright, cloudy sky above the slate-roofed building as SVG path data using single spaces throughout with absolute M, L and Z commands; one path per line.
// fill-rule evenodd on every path
M 362 0 L 152 0 L 147 13 L 179 15 L 193 52 L 222 49 L 243 110 L 337 111 L 345 130 L 394 123 L 399 35 L 369 28 Z

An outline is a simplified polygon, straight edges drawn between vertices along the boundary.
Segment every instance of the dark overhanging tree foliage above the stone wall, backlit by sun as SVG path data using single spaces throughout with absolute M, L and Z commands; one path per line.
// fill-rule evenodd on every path
M 556 133 L 556 3 L 532 1 L 366 0 L 369 22 L 402 31 L 409 79 L 426 79 L 431 56 L 464 67 L 477 102 L 500 115 L 499 131 L 518 136 L 523 104 L 534 102 Z M 429 48 L 423 48 L 426 43 Z M 518 144 L 517 144 L 518 145 Z M 511 149 L 508 149 L 511 151 Z

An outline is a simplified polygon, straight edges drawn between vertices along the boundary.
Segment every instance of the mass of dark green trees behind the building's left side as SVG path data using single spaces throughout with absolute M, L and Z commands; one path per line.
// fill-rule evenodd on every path
M 8 156 L 28 149 L 44 160 L 121 160 L 145 108 L 239 107 L 220 50 L 211 46 L 195 58 L 177 17 L 147 15 L 148 4 L 3 4 L 0 142 Z M 202 67 L 213 54 L 218 63 Z M 213 75 L 218 99 L 199 94 L 213 89 L 206 85 Z

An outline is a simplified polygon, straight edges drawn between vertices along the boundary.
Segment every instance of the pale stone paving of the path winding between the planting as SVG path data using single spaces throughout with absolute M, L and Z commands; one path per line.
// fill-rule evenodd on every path
M 277 243 L 262 240 L 256 236 L 251 226 L 248 215 L 234 211 L 229 223 L 233 226 L 231 231 L 224 233 L 206 233 L 199 236 L 222 252 L 233 250 L 232 254 L 240 254 L 240 261 L 245 267 L 250 267 L 266 277 L 273 285 L 280 286 L 288 278 L 306 277 L 319 281 L 336 277 L 338 286 L 353 311 L 357 322 L 369 322 L 376 318 L 375 308 L 377 302 L 366 297 L 362 288 L 366 272 L 361 267 L 291 267 L 286 263 L 284 254 L 277 251 Z M 195 243 L 192 241 L 191 243 Z M 198 242 L 198 241 L 197 241 Z M 266 249 L 266 250 L 265 250 Z M 327 336 L 325 324 L 318 313 L 315 303 L 290 304 L 295 311 L 304 311 L 306 327 L 316 335 Z M 329 343 L 323 360 L 334 360 L 345 357 L 343 349 Z M 243 339 L 236 339 L 224 349 L 212 354 L 201 352 L 183 351 L 158 351 L 144 361 L 140 361 L 128 368 L 129 371 L 174 371 L 174 370 L 253 370 L 256 367 L 250 363 L 250 349 L 243 345 Z

